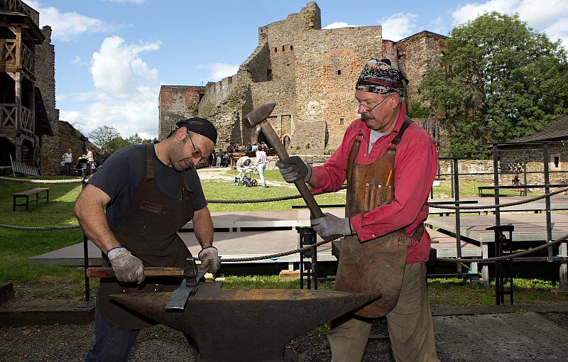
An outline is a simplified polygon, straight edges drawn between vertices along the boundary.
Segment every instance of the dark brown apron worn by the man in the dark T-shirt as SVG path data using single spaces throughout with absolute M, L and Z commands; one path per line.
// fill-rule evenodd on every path
M 192 190 L 180 172 L 177 197 L 172 198 L 158 187 L 154 179 L 153 144 L 146 146 L 146 168 L 143 182 L 136 190 L 129 209 L 113 230 L 121 245 L 144 266 L 183 268 L 191 256 L 178 230 L 193 218 Z M 103 265 L 109 266 L 107 258 Z M 182 278 L 148 277 L 140 285 L 101 279 L 97 292 L 97 308 L 111 326 L 120 329 L 142 329 L 156 323 L 141 314 L 110 300 L 121 293 L 170 292 L 180 286 Z

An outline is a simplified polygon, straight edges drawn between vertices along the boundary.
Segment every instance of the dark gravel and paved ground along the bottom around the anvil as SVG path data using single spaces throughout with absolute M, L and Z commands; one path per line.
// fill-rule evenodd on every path
M 518 312 L 434 317 L 441 362 L 566 361 L 568 314 Z M 0 327 L 0 361 L 83 361 L 93 338 L 93 324 Z M 394 361 L 386 320 L 377 319 L 364 362 Z M 330 361 L 323 328 L 288 344 L 300 361 Z M 129 361 L 195 361 L 185 337 L 168 327 L 141 331 Z

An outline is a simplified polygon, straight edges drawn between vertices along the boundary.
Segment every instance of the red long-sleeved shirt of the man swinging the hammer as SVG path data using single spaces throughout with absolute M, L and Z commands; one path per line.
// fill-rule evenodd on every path
M 368 153 L 371 130 L 361 119 L 351 122 L 341 145 L 321 166 L 315 166 L 317 185 L 314 192 L 339 190 L 346 180 L 347 158 L 354 139 L 363 133 L 359 153 L 355 158 L 358 165 L 369 165 L 381 157 L 398 134 L 406 116 L 403 104 L 400 116 L 391 133 L 379 138 L 371 153 Z M 395 157 L 395 198 L 391 204 L 381 205 L 370 212 L 351 217 L 351 226 L 359 240 L 367 241 L 405 227 L 406 234 L 412 235 L 417 226 L 428 216 L 427 199 L 437 170 L 436 148 L 432 137 L 417 124 L 410 124 L 400 140 Z M 408 247 L 407 264 L 427 261 L 430 255 L 430 235 L 424 233 L 418 243 L 413 239 Z

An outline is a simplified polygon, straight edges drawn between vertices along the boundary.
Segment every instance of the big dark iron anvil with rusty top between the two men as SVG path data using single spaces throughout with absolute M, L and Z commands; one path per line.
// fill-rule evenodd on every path
M 221 289 L 200 283 L 185 310 L 166 312 L 171 292 L 111 295 L 155 322 L 190 336 L 200 362 L 294 361 L 285 344 L 380 295 L 297 289 Z M 289 352 L 289 351 L 288 351 Z

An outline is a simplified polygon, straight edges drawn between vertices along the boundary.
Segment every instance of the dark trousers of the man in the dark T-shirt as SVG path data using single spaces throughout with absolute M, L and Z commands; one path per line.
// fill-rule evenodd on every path
M 85 362 L 126 362 L 139 330 L 114 328 L 94 309 L 94 344 Z

